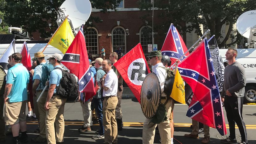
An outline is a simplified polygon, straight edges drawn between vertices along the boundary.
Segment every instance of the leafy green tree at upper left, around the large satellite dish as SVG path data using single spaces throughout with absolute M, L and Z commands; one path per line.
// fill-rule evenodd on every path
M 40 32 L 42 38 L 50 37 L 58 28 L 56 23 L 58 8 L 65 0 L 1 0 L 5 6 L 5 22 L 12 27 L 22 27 L 30 34 Z M 92 7 L 106 12 L 115 9 L 116 2 L 120 0 L 91 0 Z M 101 22 L 100 18 L 91 16 L 93 22 Z M 88 20 L 88 21 L 89 21 Z M 51 26 L 49 26 L 51 23 Z

